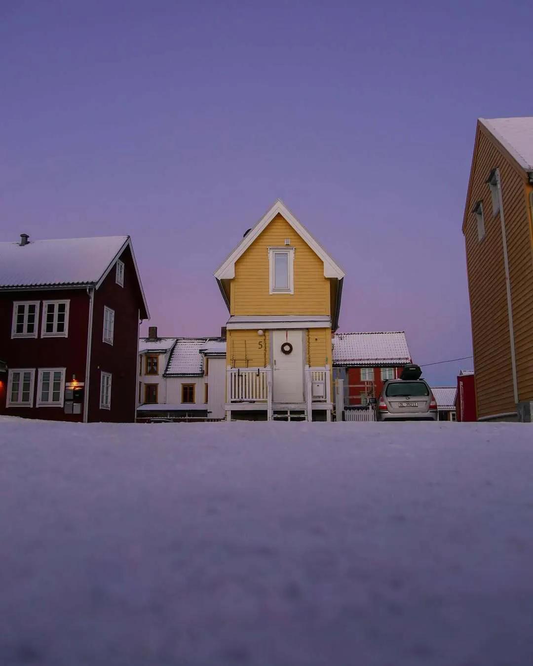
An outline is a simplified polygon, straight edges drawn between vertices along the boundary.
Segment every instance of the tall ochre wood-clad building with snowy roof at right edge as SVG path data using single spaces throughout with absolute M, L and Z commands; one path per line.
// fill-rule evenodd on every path
M 478 420 L 533 421 L 533 117 L 478 119 L 462 232 Z

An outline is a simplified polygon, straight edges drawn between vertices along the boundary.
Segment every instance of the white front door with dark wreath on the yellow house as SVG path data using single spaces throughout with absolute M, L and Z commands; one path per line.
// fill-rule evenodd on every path
M 303 402 L 303 331 L 273 330 L 272 358 L 273 402 Z

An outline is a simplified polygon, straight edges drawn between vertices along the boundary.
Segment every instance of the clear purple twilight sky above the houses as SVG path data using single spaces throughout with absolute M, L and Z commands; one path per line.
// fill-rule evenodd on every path
M 218 334 L 279 197 L 347 272 L 339 330 L 468 356 L 476 117 L 531 115 L 533 10 L 406 5 L 4 0 L 0 240 L 130 234 L 160 334 Z

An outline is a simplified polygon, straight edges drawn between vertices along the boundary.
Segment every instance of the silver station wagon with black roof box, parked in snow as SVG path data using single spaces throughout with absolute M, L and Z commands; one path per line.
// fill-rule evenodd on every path
M 419 366 L 405 366 L 400 379 L 383 384 L 377 399 L 378 421 L 437 421 L 437 401 Z

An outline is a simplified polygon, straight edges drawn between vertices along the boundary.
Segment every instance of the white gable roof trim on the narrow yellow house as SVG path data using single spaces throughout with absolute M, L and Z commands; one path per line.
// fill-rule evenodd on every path
M 215 272 L 215 277 L 217 280 L 231 280 L 232 278 L 235 277 L 235 262 L 238 260 L 246 250 L 252 245 L 254 240 L 259 236 L 259 234 L 267 227 L 269 222 L 275 218 L 277 214 L 281 214 L 287 222 L 291 225 L 291 227 L 295 230 L 295 232 L 305 240 L 307 245 L 321 258 L 321 260 L 324 262 L 324 277 L 325 278 L 338 278 L 339 280 L 342 280 L 342 278 L 345 276 L 345 272 L 327 254 L 325 249 L 321 246 L 321 244 L 314 238 L 311 233 L 299 222 L 295 216 L 290 212 L 290 210 L 283 204 L 281 199 L 277 199 L 275 204 L 267 210 L 266 214 L 259 220 L 259 222 L 244 236 L 244 238 L 241 240 L 241 242 L 238 244 L 238 246 L 233 250 L 233 252 L 228 256 L 228 258 L 220 264 L 218 269 Z

